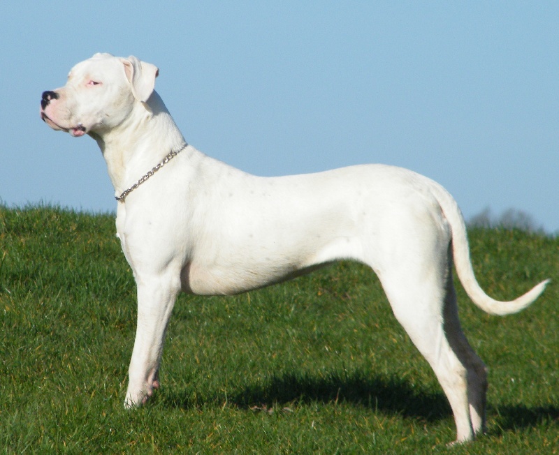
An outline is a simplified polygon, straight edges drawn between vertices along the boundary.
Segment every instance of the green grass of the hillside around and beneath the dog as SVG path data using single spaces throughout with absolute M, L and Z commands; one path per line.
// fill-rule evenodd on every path
M 559 239 L 472 230 L 500 299 L 553 278 L 532 307 L 488 316 L 458 285 L 490 368 L 488 434 L 455 428 L 377 278 L 341 262 L 237 297 L 181 295 L 145 408 L 122 406 L 136 290 L 110 215 L 0 207 L 0 447 L 6 453 L 559 453 Z

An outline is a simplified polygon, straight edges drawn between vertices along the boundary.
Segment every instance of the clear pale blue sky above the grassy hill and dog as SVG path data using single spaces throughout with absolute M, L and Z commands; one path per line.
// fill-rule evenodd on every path
M 187 141 L 259 175 L 358 163 L 443 184 L 466 218 L 559 231 L 559 2 L 2 2 L 0 199 L 114 211 L 94 140 L 41 92 L 95 52 L 159 67 Z

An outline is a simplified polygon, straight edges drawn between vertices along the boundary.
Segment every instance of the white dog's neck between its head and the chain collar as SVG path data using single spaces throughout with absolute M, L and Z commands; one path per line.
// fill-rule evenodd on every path
M 117 128 L 89 135 L 99 144 L 117 195 L 185 142 L 156 91 L 147 103 L 135 103 L 129 117 Z

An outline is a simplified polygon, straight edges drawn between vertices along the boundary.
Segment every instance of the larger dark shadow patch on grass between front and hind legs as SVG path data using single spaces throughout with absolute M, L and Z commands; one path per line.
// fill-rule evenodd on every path
M 166 402 L 177 408 L 193 408 L 215 403 L 222 406 L 224 395 L 191 400 L 188 393 L 167 396 Z M 227 396 L 229 406 L 263 408 L 305 405 L 309 403 L 352 403 L 402 417 L 425 419 L 428 422 L 451 416 L 447 398 L 442 392 L 418 389 L 406 380 L 369 376 L 356 371 L 331 373 L 326 378 L 309 374 L 286 373 L 273 376 L 265 384 L 252 384 Z

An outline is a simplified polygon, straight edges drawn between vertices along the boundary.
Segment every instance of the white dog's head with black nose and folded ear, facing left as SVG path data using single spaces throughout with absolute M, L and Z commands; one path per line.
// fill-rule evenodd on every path
M 43 92 L 41 119 L 74 137 L 122 124 L 154 91 L 156 66 L 136 57 L 95 54 L 75 65 L 64 87 Z

